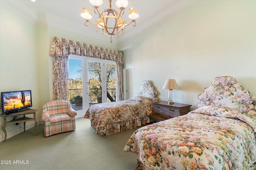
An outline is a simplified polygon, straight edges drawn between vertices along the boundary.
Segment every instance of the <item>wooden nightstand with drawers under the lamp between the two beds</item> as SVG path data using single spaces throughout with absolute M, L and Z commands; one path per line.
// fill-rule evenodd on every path
M 177 117 L 185 115 L 189 112 L 190 106 L 188 104 L 168 104 L 168 102 L 157 102 L 151 103 L 153 107 L 152 119 L 154 121 L 162 121 L 170 119 L 172 117 Z

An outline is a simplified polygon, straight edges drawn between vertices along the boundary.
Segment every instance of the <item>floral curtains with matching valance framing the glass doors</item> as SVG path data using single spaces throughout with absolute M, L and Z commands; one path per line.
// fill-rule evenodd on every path
M 93 45 L 54 37 L 50 56 L 53 59 L 53 100 L 68 100 L 68 55 L 79 55 L 103 60 L 115 61 L 118 74 L 119 100 L 123 95 L 124 56 L 120 51 L 104 49 Z

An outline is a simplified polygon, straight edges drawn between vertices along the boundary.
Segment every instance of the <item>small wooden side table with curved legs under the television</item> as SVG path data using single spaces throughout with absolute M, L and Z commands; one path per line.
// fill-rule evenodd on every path
M 2 125 L 2 130 L 4 131 L 4 135 L 5 135 L 5 138 L 4 138 L 4 142 L 6 141 L 6 137 L 7 137 L 7 133 L 6 133 L 6 130 L 5 130 L 5 126 L 7 124 L 11 124 L 11 123 L 20 123 L 20 122 L 24 122 L 24 132 L 26 131 L 25 130 L 25 125 L 26 125 L 26 121 L 35 121 L 35 126 L 34 126 L 34 133 L 35 133 L 35 136 L 36 136 L 36 125 L 37 125 L 37 121 L 36 121 L 36 111 L 35 109 L 27 109 L 25 111 L 19 111 L 17 113 L 12 113 L 10 115 L 6 115 L 6 114 L 1 114 L 2 117 L 4 117 L 4 125 Z M 27 114 L 34 114 L 34 118 L 30 118 L 30 117 L 26 117 L 25 115 Z M 23 115 L 23 117 L 20 117 L 18 119 L 15 119 L 15 120 L 11 120 L 11 121 L 8 121 L 6 122 L 6 117 L 8 116 L 17 116 L 17 115 Z

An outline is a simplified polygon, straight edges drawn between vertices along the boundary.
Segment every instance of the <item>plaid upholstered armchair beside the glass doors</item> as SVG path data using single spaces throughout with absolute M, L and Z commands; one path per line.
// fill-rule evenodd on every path
M 76 111 L 72 109 L 70 102 L 54 100 L 44 104 L 42 119 L 44 121 L 44 136 L 55 135 L 76 129 Z

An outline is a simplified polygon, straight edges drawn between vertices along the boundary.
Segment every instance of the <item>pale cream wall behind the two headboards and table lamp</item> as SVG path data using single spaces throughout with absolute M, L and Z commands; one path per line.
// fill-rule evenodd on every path
M 159 100 L 167 101 L 162 86 L 174 78 L 180 87 L 174 102 L 195 109 L 198 94 L 217 76 L 234 76 L 256 95 L 256 1 L 199 1 L 119 49 L 128 46 L 134 95 L 142 80 L 151 80 Z

